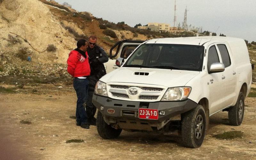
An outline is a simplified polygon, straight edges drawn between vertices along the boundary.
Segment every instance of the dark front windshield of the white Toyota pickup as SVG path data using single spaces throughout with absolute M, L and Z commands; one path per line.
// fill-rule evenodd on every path
M 202 71 L 204 47 L 184 44 L 142 44 L 123 67 Z

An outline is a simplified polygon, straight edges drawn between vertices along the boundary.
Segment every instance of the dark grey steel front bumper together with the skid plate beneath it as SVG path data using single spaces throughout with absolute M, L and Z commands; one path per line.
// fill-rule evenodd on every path
M 92 103 L 99 109 L 108 124 L 118 124 L 122 129 L 151 131 L 152 127 L 163 128 L 171 120 L 180 120 L 180 114 L 196 107 L 192 100 L 139 102 L 115 100 L 108 97 L 93 95 Z M 158 109 L 158 120 L 140 119 L 139 108 Z M 159 113 L 164 111 L 164 115 Z

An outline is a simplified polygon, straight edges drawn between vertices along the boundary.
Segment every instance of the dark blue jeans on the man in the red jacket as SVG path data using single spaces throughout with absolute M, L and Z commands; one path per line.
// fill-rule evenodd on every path
M 87 114 L 85 111 L 86 100 L 88 96 L 89 81 L 88 78 L 74 78 L 74 89 L 76 90 L 76 123 L 87 124 Z

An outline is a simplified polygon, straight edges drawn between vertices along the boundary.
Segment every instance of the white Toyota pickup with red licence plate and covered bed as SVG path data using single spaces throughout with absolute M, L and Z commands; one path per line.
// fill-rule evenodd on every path
M 97 130 L 105 139 L 122 129 L 180 136 L 200 147 L 209 116 L 226 110 L 240 125 L 252 68 L 243 39 L 219 36 L 152 39 L 96 84 Z

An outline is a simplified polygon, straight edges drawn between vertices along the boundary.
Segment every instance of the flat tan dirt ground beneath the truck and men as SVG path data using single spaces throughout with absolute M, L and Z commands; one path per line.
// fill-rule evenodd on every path
M 200 148 L 184 148 L 178 139 L 123 131 L 104 140 L 96 126 L 76 126 L 76 94 L 72 85 L 40 85 L 19 93 L 0 93 L 0 159 L 256 159 L 256 98 L 245 100 L 244 121 L 228 125 L 227 112 L 210 117 L 208 134 Z M 31 124 L 21 124 L 28 120 Z M 219 140 L 225 131 L 242 131 L 242 138 Z M 82 143 L 66 143 L 82 139 Z

